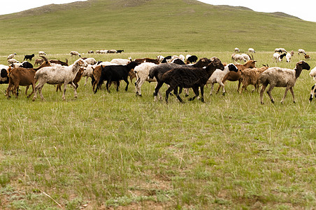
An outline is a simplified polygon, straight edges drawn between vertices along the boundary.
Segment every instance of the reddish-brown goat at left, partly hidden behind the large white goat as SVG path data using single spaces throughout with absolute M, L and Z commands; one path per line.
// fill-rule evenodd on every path
M 50 66 L 50 62 L 48 61 L 48 59 L 46 59 L 46 57 L 43 57 L 43 59 L 45 60 L 45 62 L 43 62 L 43 64 L 41 64 L 41 66 L 39 66 L 36 69 L 25 69 L 22 67 L 16 67 L 16 68 L 12 68 L 11 67 L 8 69 L 8 78 L 9 78 L 9 85 L 8 85 L 8 89 L 6 90 L 6 95 L 9 98 L 10 97 L 10 91 L 12 89 L 13 94 L 15 95 L 15 97 L 17 97 L 17 90 L 19 88 L 19 85 L 21 86 L 27 86 L 26 90 L 25 90 L 25 94 L 27 94 L 27 90 L 29 89 L 29 85 L 32 85 L 32 92 L 27 96 L 30 97 L 31 94 L 34 93 L 34 88 L 35 88 L 35 83 L 36 80 L 34 78 L 35 73 L 38 69 L 41 69 L 45 66 Z

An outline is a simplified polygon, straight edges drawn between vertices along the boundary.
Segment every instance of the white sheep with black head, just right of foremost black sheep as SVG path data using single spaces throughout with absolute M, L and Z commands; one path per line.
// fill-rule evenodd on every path
M 216 69 L 212 76 L 208 79 L 208 84 L 211 84 L 210 87 L 210 95 L 213 94 L 213 89 L 214 89 L 214 84 L 219 83 L 223 87 L 223 95 L 225 94 L 225 88 L 224 88 L 224 83 L 222 83 L 222 80 L 224 76 L 229 73 L 229 71 L 238 71 L 238 68 L 234 64 L 228 64 L 225 66 L 224 71 L 220 69 Z

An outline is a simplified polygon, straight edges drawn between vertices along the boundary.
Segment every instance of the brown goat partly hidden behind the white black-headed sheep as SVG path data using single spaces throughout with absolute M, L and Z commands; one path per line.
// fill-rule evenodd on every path
M 229 73 L 227 73 L 226 76 L 224 76 L 222 83 L 225 83 L 226 80 L 229 81 L 238 81 L 238 89 L 237 91 L 239 92 L 239 88 L 240 88 L 240 83 L 241 83 L 241 71 L 243 71 L 243 69 L 252 69 L 256 67 L 256 62 L 257 60 L 248 60 L 247 62 L 245 62 L 245 64 L 235 64 L 235 66 L 237 66 L 238 71 L 229 71 Z M 220 87 L 222 86 L 218 86 L 216 93 L 218 93 L 220 91 Z

